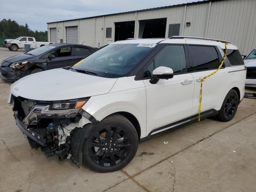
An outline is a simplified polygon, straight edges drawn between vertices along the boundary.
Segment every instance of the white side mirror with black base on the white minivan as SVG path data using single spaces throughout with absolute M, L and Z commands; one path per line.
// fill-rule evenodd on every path
M 160 66 L 153 72 L 153 77 L 150 79 L 151 84 L 156 84 L 160 79 L 171 79 L 173 78 L 173 70 L 169 67 Z

